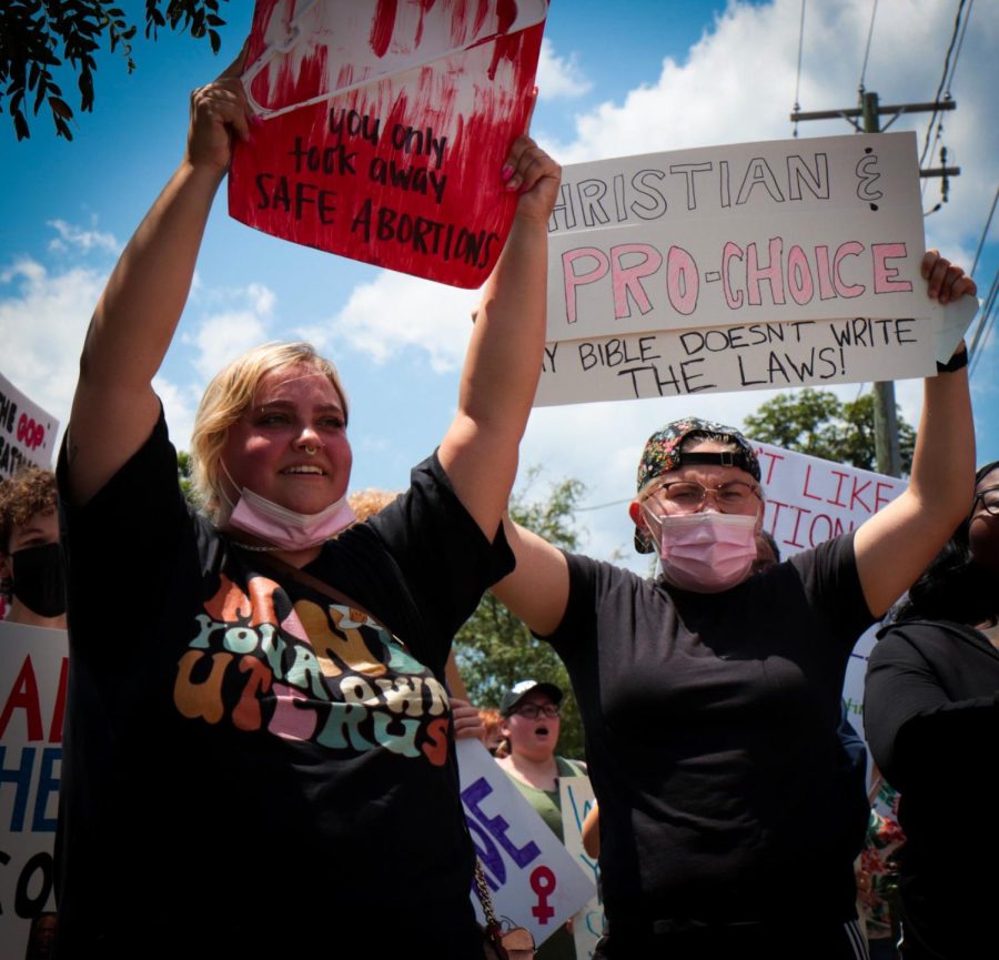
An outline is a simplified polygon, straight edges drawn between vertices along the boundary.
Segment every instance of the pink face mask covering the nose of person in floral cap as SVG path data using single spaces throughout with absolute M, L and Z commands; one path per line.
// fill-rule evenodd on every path
M 717 594 L 753 572 L 756 516 L 702 513 L 656 519 L 663 575 L 674 586 Z

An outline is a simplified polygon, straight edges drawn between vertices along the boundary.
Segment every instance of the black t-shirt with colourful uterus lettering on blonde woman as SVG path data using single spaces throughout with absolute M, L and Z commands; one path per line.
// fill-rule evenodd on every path
M 305 568 L 401 640 L 193 513 L 162 417 L 63 506 L 60 956 L 477 956 L 442 681 L 513 557 L 436 457 Z

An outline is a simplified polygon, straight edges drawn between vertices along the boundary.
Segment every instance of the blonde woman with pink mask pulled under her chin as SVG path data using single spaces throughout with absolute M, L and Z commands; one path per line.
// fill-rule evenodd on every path
M 513 557 L 501 515 L 544 341 L 559 170 L 527 138 L 456 416 L 412 486 L 351 522 L 346 394 L 307 344 L 210 384 L 176 482 L 151 381 L 212 199 L 248 138 L 240 62 L 98 304 L 59 478 L 71 677 L 60 956 L 482 956 L 444 664 Z M 349 527 L 349 528 L 347 528 Z M 342 532 L 342 533 L 340 533 Z M 337 533 L 336 539 L 331 539 Z

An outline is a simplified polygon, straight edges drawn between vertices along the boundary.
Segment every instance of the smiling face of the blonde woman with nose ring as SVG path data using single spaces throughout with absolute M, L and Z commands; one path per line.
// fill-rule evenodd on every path
M 351 476 L 340 394 L 304 364 L 269 373 L 229 428 L 222 461 L 235 484 L 223 473 L 233 502 L 246 487 L 296 513 L 320 513 L 345 494 Z

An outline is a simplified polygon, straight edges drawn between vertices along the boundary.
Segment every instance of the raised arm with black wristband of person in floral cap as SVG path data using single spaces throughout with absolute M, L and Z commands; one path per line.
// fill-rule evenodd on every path
M 935 250 L 922 261 L 922 275 L 930 297 L 940 303 L 977 292 L 975 282 Z M 975 427 L 968 371 L 961 368 L 925 381 L 909 486 L 857 530 L 857 569 L 875 616 L 885 614 L 939 553 L 968 515 L 973 492 Z

